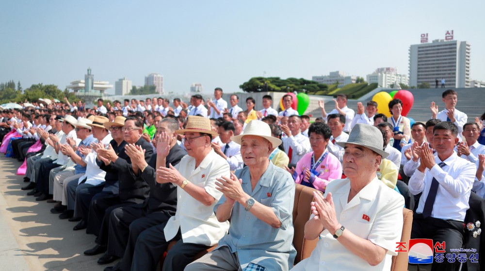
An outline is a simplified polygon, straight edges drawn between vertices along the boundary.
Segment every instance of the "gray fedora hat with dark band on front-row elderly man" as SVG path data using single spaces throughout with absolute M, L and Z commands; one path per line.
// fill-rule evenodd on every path
M 347 142 L 337 142 L 340 147 L 345 147 L 345 144 L 355 144 L 366 147 L 374 152 L 377 152 L 382 158 L 388 157 L 389 153 L 384 152 L 384 139 L 382 133 L 376 127 L 370 124 L 357 123 L 350 132 Z

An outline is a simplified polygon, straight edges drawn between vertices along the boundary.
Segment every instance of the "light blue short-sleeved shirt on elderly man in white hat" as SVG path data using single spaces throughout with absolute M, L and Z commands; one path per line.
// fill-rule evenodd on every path
M 291 174 L 270 161 L 254 190 L 248 167 L 236 170 L 235 174 L 242 179 L 245 193 L 273 209 L 281 227 L 273 228 L 236 202 L 232 208 L 229 234 L 219 241 L 217 248 L 227 246 L 231 253 L 237 252 L 242 270 L 249 263 L 264 266 L 266 270 L 289 270 L 296 256 L 292 245 L 295 182 Z M 226 197 L 222 196 L 214 212 L 225 201 Z

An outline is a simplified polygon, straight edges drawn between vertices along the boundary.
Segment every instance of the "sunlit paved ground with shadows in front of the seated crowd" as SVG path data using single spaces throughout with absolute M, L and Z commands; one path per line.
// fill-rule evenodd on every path
M 0 271 L 102 271 L 98 256 L 85 256 L 95 236 L 73 231 L 77 222 L 50 213 L 54 203 L 36 202 L 20 190 L 21 163 L 0 154 Z M 99 255 L 101 256 L 101 255 Z M 113 265 L 113 264 L 111 264 Z

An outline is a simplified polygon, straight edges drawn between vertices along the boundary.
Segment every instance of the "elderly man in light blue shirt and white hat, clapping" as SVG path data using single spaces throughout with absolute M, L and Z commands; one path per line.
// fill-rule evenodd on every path
M 281 140 L 259 120 L 233 140 L 241 144 L 247 167 L 217 179 L 224 196 L 214 208 L 219 221 L 231 219 L 229 235 L 185 270 L 289 270 L 296 256 L 291 244 L 295 183 L 269 160 Z

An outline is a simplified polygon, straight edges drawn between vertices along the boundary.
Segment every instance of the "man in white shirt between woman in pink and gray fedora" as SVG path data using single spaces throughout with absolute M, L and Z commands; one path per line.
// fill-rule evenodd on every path
M 340 114 L 329 114 L 327 116 L 328 127 L 332 131 L 332 136 L 328 141 L 328 152 L 339 158 L 340 163 L 343 159 L 343 148 L 337 145 L 337 142 L 347 142 L 349 135 L 343 133 L 345 127 L 345 117 Z

